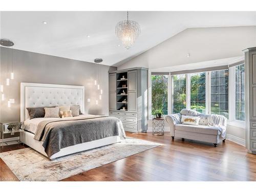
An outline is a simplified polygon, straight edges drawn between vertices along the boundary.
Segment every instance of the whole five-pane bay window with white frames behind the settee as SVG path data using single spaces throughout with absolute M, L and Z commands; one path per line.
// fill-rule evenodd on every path
M 223 115 L 229 123 L 244 126 L 245 69 L 241 63 L 229 68 L 209 68 L 206 72 L 151 75 L 152 114 L 159 109 L 164 115 L 193 109 L 203 114 Z

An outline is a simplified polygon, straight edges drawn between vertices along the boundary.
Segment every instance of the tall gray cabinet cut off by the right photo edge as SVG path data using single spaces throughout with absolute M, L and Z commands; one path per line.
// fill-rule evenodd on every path
M 246 148 L 256 154 L 256 47 L 245 52 Z

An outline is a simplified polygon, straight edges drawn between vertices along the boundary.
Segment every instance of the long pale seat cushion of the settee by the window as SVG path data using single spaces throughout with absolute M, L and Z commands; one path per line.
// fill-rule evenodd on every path
M 175 130 L 185 131 L 185 132 L 194 132 L 194 133 L 202 133 L 208 135 L 220 135 L 221 132 L 207 125 L 188 125 L 188 124 L 176 124 Z

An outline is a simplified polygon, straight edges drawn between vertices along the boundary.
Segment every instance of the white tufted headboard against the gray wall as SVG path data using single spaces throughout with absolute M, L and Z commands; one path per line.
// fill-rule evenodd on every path
M 80 105 L 84 113 L 84 87 L 63 84 L 20 83 L 20 121 L 29 118 L 26 108 L 37 106 Z

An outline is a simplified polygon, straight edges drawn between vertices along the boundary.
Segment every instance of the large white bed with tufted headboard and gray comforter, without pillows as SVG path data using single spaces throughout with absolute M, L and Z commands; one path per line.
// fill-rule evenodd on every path
M 125 139 L 122 123 L 115 117 L 83 114 L 77 117 L 65 119 L 30 119 L 29 113 L 26 110 L 28 107 L 60 105 L 80 105 L 80 110 L 83 114 L 84 87 L 24 82 L 20 84 L 20 121 L 24 122 L 25 128 L 22 141 L 37 152 L 48 157 L 50 160 L 90 150 L 92 148 L 117 143 L 122 139 Z M 83 126 L 88 127 L 87 132 L 84 130 L 83 133 Z M 51 129 L 49 127 L 51 127 Z M 72 129 L 70 129 L 70 127 L 72 127 Z M 54 131 L 46 135 L 47 132 L 45 130 L 48 128 L 49 130 Z M 71 130 L 75 131 L 71 132 Z M 41 140 L 38 139 L 39 137 L 36 138 L 38 132 L 48 139 Z M 98 134 L 99 132 L 100 134 Z M 55 141 L 54 138 L 56 138 L 60 133 L 61 137 L 59 136 L 59 140 Z M 78 137 L 77 135 L 81 138 L 76 138 Z M 67 140 L 68 144 L 63 142 Z M 57 143 L 57 145 L 58 143 L 64 144 L 58 145 L 58 150 L 55 149 L 55 145 L 48 147 L 48 145 L 54 142 L 55 144 Z

